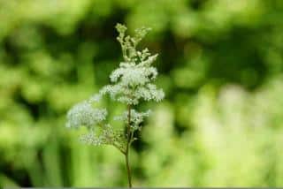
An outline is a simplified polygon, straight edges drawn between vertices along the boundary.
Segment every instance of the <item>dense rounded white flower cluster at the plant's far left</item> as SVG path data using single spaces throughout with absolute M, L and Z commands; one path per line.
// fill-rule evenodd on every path
M 91 127 L 105 120 L 106 109 L 95 109 L 92 104 L 85 101 L 73 106 L 67 113 L 66 127 L 78 128 L 80 126 Z

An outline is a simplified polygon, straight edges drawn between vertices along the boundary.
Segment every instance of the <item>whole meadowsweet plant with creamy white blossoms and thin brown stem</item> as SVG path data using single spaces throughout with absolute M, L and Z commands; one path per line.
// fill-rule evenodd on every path
M 152 64 L 157 59 L 149 49 L 138 50 L 137 45 L 148 34 L 149 28 L 136 29 L 134 36 L 126 35 L 126 26 L 116 26 L 121 45 L 123 61 L 111 72 L 111 83 L 101 88 L 98 94 L 73 106 L 67 113 L 68 128 L 88 128 L 88 133 L 80 136 L 80 140 L 95 146 L 112 145 L 125 155 L 128 185 L 132 186 L 129 166 L 130 146 L 137 140 L 135 132 L 142 131 L 142 122 L 149 117 L 150 110 L 136 110 L 142 101 L 160 102 L 164 98 L 162 89 L 158 89 L 153 81 L 157 79 L 157 69 Z M 121 121 L 125 129 L 119 130 L 107 123 L 106 109 L 96 106 L 103 96 L 110 96 L 112 101 L 126 104 L 126 110 L 114 117 Z

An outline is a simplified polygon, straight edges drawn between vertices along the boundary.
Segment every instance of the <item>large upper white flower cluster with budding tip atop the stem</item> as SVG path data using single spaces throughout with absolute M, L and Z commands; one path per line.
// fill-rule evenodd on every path
M 136 45 L 149 29 L 141 28 L 135 31 L 134 37 L 125 35 L 126 26 L 117 25 L 118 41 L 121 44 L 124 62 L 111 73 L 113 83 L 103 87 L 101 94 L 109 94 L 111 98 L 126 104 L 138 104 L 140 100 L 159 102 L 164 98 L 164 92 L 151 82 L 157 78 L 157 69 L 151 64 L 156 61 L 157 55 L 151 56 L 149 49 L 139 51 Z

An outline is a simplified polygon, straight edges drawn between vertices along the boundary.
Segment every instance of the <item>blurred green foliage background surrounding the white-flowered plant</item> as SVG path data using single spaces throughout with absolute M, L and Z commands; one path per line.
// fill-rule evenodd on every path
M 118 150 L 65 128 L 119 65 L 117 22 L 152 27 L 166 94 L 135 186 L 283 186 L 282 0 L 0 0 L 0 187 L 126 185 Z

